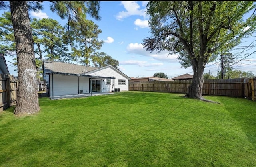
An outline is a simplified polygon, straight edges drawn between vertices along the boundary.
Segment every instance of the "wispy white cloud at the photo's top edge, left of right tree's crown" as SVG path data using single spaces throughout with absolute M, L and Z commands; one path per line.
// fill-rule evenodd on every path
M 146 8 L 140 9 L 140 5 L 136 1 L 121 1 L 125 11 L 118 12 L 117 20 L 123 20 L 129 16 L 138 15 L 146 17 Z

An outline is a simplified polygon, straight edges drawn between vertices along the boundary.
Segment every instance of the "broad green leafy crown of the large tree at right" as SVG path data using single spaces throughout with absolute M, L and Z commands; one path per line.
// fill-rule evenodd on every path
M 253 1 L 150 1 L 152 37 L 143 45 L 148 51 L 179 53 L 182 67 L 202 68 L 254 33 L 255 15 L 243 18 L 254 8 Z

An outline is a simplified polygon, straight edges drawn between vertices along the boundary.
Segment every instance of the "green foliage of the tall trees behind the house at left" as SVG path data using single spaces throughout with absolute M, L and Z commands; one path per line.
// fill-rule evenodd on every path
M 0 4 L 1 5 L 1 4 Z M 2 4 L 5 7 L 6 4 Z M 8 6 L 8 5 L 7 5 Z M 30 10 L 41 9 L 40 2 L 29 2 Z M 56 20 L 43 18 L 33 19 L 31 22 L 34 50 L 36 55 L 36 65 L 38 71 L 42 71 L 42 55 L 46 59 L 54 61 L 68 62 L 78 60 L 80 63 L 97 67 L 112 65 L 118 68 L 118 61 L 112 59 L 106 53 L 98 53 L 103 41 L 98 40 L 98 34 L 102 31 L 98 25 L 91 20 L 86 20 L 86 14 L 90 14 L 96 20 L 100 20 L 98 11 L 100 10 L 99 1 L 52 1 L 52 12 L 57 12 L 61 18 L 68 18 L 67 26 L 62 27 Z M 16 45 L 10 12 L 5 12 L 0 18 L 0 34 L 2 53 L 9 53 L 16 57 Z M 65 29 L 66 28 L 66 29 Z M 65 31 L 66 30 L 66 31 Z M 68 44 L 72 46 L 72 57 L 70 57 Z M 16 59 L 16 58 L 14 58 Z M 40 72 L 41 73 L 41 72 Z

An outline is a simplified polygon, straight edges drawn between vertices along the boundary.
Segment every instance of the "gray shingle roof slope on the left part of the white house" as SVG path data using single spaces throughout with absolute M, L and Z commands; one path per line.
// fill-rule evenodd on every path
M 72 63 L 63 63 L 59 61 L 44 60 L 44 73 L 59 72 L 69 74 L 84 74 L 95 69 L 99 68 L 84 65 L 76 65 Z

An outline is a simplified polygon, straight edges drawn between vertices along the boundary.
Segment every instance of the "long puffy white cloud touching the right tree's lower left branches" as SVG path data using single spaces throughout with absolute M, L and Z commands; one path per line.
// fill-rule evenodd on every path
M 146 57 L 150 57 L 153 60 L 164 61 L 164 62 L 177 62 L 178 55 L 168 55 L 168 51 L 162 51 L 161 53 L 151 53 L 146 51 L 146 48 L 140 43 L 130 43 L 126 50 L 128 53 L 134 53 Z

